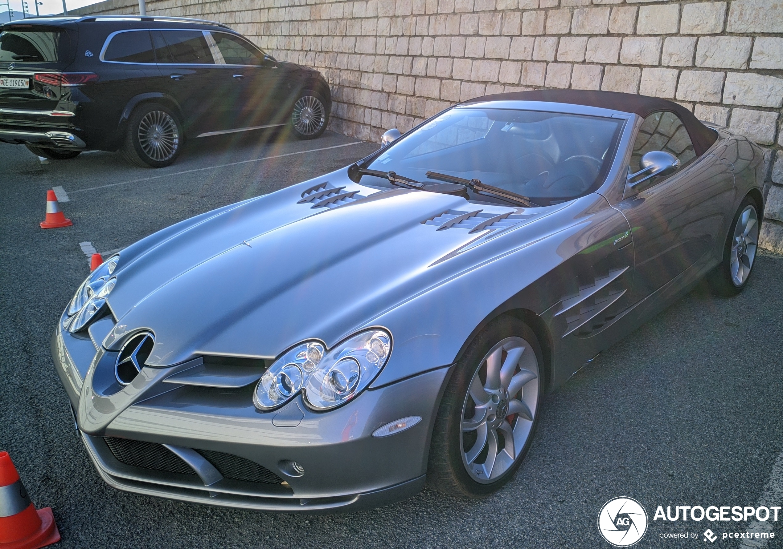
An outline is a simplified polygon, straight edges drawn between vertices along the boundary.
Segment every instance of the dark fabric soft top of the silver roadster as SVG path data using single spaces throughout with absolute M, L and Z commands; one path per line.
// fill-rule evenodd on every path
M 533 90 L 512 91 L 485 95 L 466 101 L 466 103 L 485 101 L 543 101 L 552 103 L 572 103 L 575 105 L 596 106 L 603 109 L 620 110 L 624 113 L 637 113 L 645 118 L 660 110 L 666 110 L 677 114 L 683 121 L 685 129 L 693 142 L 693 149 L 698 156 L 713 145 L 718 138 L 717 132 L 702 124 L 693 113 L 675 102 L 636 95 L 619 93 L 618 91 L 590 91 L 590 90 Z

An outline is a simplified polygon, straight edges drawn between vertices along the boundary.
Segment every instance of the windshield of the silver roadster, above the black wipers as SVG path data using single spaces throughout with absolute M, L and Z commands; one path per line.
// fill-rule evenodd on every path
M 367 167 L 417 181 L 428 181 L 428 171 L 478 179 L 540 205 L 561 203 L 601 185 L 622 123 L 529 110 L 450 109 L 389 145 Z

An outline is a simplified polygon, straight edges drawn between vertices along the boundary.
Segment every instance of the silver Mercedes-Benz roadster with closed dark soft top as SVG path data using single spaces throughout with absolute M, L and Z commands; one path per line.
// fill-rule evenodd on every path
M 702 279 L 748 281 L 763 155 L 662 99 L 463 102 L 110 257 L 52 339 L 120 490 L 338 511 L 482 497 L 543 395 Z

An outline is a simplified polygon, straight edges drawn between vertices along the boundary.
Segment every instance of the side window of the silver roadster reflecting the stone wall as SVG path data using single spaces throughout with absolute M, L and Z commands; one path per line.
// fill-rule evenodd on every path
M 641 157 L 650 151 L 670 152 L 680 159 L 683 166 L 696 156 L 691 137 L 687 135 L 680 117 L 665 111 L 652 113 L 642 122 L 636 141 L 633 142 L 631 170 L 640 170 Z

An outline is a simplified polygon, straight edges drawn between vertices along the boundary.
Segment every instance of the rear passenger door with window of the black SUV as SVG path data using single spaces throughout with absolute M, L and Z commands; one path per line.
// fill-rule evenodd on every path
M 225 81 L 202 30 L 152 30 L 161 87 L 182 109 L 186 135 L 226 127 Z

